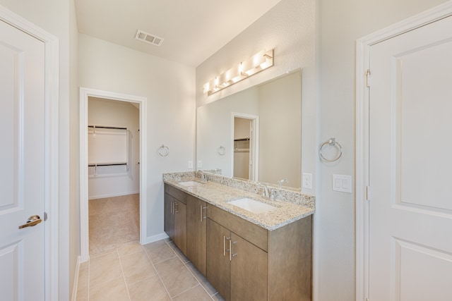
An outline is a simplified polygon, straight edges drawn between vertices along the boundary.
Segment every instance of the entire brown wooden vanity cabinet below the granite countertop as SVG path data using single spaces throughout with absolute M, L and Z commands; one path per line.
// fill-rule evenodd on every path
M 227 301 L 311 300 L 311 215 L 269 231 L 165 184 L 165 231 Z

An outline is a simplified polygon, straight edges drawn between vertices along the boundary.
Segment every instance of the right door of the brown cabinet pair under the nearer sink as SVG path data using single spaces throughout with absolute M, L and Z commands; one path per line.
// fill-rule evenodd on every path
M 231 233 L 231 300 L 267 300 L 267 252 Z

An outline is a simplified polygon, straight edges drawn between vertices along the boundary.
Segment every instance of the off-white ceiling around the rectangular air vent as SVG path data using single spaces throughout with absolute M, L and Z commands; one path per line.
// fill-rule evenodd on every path
M 76 0 L 78 32 L 198 66 L 280 0 Z M 160 47 L 135 39 L 143 30 Z

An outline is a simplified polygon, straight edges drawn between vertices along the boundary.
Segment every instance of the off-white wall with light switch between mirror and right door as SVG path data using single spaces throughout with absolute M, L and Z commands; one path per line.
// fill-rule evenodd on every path
M 321 164 L 316 191 L 316 300 L 355 300 L 355 195 L 331 190 L 335 174 L 355 175 L 355 41 L 443 0 L 319 0 L 321 141 L 344 153 Z

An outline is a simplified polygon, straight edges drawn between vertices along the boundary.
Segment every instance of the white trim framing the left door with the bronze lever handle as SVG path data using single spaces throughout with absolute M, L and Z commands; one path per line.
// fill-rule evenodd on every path
M 58 300 L 59 291 L 59 39 L 0 6 L 0 20 L 44 42 L 45 51 L 45 300 Z

